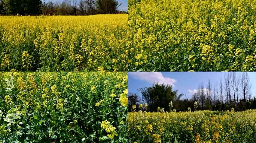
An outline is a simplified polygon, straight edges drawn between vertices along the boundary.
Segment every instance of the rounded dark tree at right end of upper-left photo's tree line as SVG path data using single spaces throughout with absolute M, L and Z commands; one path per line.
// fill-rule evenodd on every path
M 122 3 L 121 3 L 122 4 Z M 96 6 L 100 13 L 116 13 L 118 7 L 121 6 L 116 0 L 97 0 Z

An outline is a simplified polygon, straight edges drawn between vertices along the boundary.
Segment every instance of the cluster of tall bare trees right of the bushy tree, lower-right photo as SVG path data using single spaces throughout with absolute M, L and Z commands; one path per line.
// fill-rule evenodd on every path
M 251 100 L 251 83 L 247 72 L 227 72 L 224 79 L 217 83 L 212 83 L 208 79 L 206 88 L 204 84 L 198 85 L 196 93 L 193 94 L 193 100 L 198 101 L 201 108 L 216 106 L 218 103 L 238 104 L 239 100 Z

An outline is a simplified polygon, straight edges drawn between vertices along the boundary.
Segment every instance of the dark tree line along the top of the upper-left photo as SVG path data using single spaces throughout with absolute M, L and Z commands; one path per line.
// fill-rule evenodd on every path
M 0 15 L 95 15 L 127 13 L 119 11 L 116 0 L 0 0 Z

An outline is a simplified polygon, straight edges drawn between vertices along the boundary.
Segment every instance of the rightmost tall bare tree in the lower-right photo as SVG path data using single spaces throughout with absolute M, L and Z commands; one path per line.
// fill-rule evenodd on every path
M 246 101 L 246 96 L 250 95 L 251 85 L 250 79 L 247 72 L 242 72 L 241 74 L 241 89 L 244 96 L 244 101 Z

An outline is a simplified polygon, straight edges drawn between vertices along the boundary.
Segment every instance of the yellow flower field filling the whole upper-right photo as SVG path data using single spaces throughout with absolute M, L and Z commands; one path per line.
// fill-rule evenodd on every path
M 129 71 L 256 71 L 256 0 L 129 0 Z

